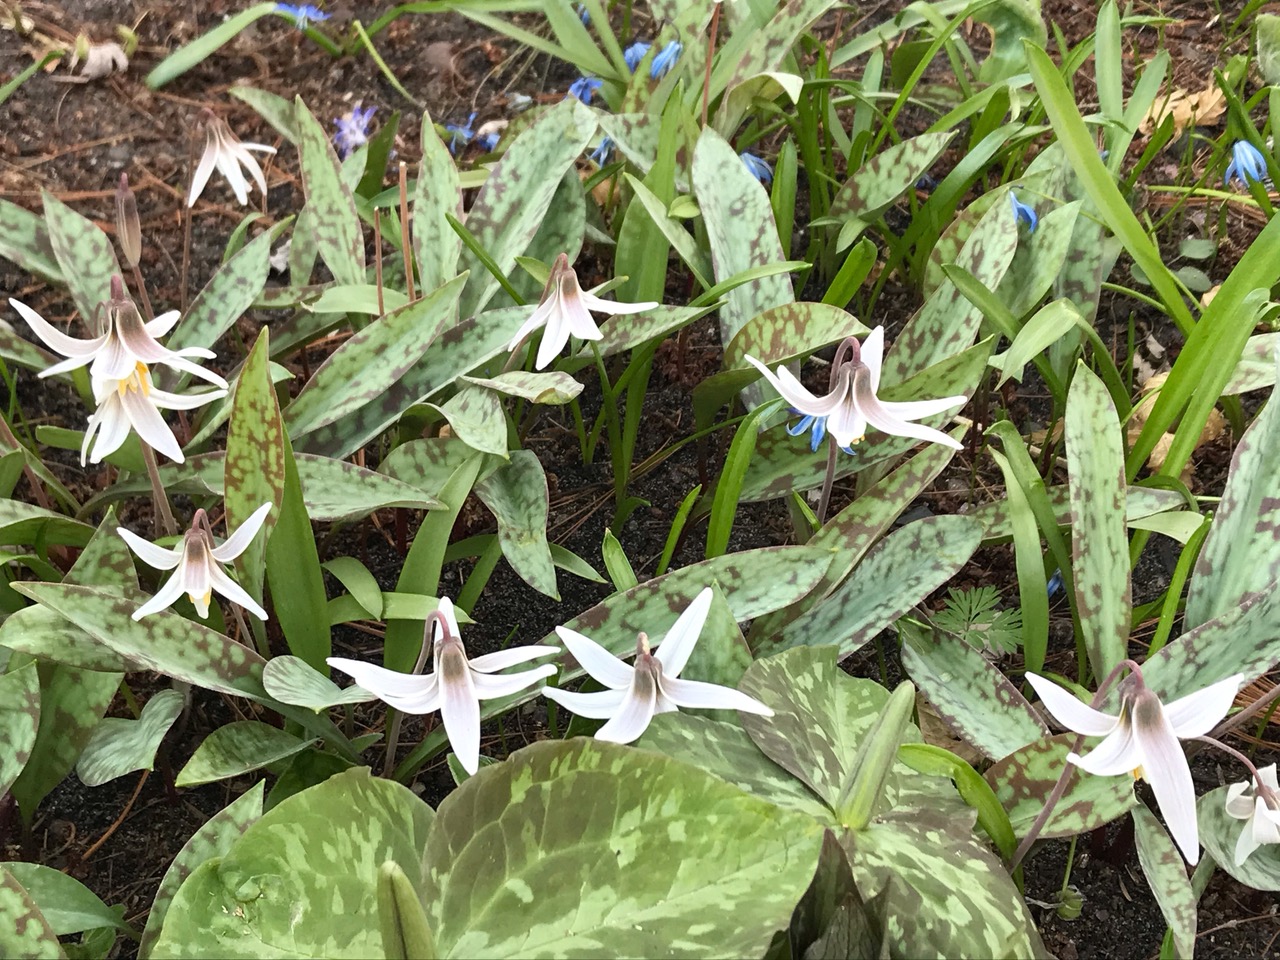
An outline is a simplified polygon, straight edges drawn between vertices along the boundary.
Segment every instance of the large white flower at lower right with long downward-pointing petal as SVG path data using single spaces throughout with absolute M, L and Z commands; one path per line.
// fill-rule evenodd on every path
M 1196 785 L 1179 739 L 1208 733 L 1235 701 L 1244 677 L 1235 675 L 1170 704 L 1162 704 L 1137 673 L 1120 689 L 1120 714 L 1094 710 L 1051 680 L 1028 673 L 1050 713 L 1068 730 L 1106 737 L 1084 756 L 1066 759 L 1098 777 L 1132 773 L 1151 783 L 1169 832 L 1188 863 L 1199 860 Z

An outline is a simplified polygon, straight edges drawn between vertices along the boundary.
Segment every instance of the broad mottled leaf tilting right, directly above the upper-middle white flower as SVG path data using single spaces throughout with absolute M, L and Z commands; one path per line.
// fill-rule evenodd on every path
M 567 97 L 516 137 L 489 172 L 467 211 L 467 229 L 499 270 L 509 274 L 516 257 L 532 242 L 561 178 L 594 134 L 595 114 L 577 97 Z M 470 250 L 463 252 L 462 265 L 471 271 L 460 303 L 461 315 L 468 317 L 489 302 L 498 280 Z

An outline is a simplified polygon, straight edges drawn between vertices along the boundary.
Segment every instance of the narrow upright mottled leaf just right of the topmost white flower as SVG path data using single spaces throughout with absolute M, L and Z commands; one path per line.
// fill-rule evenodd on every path
M 294 123 L 302 192 L 311 211 L 316 250 L 338 283 L 365 282 L 365 236 L 351 188 L 342 180 L 338 155 L 324 127 L 302 97 L 294 97 Z

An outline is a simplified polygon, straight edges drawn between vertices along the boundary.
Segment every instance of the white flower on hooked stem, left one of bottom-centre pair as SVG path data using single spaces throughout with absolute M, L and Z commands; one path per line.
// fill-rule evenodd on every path
M 436 614 L 426 622 L 426 636 L 434 640 L 431 673 L 401 673 L 344 657 L 329 657 L 325 662 L 349 673 L 358 686 L 402 713 L 439 710 L 453 753 L 467 773 L 475 773 L 480 769 L 480 701 L 517 694 L 552 676 L 556 667 L 545 663 L 518 673 L 495 675 L 494 671 L 559 653 L 559 648 L 513 646 L 467 658 L 453 602 L 448 596 L 440 598 Z

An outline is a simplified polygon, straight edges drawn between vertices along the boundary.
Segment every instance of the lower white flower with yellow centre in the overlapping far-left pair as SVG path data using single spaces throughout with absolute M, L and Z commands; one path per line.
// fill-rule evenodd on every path
M 227 396 L 227 390 L 207 390 L 191 396 L 157 390 L 151 385 L 147 365 L 141 362 L 128 376 L 93 378 L 92 384 L 97 410 L 90 416 L 88 428 L 84 430 L 84 442 L 81 444 L 82 466 L 86 457 L 90 463 L 101 463 L 128 439 L 131 429 L 137 431 L 138 439 L 151 449 L 182 463 L 186 460 L 182 447 L 160 416 L 160 411 L 195 410 Z M 95 436 L 97 443 L 93 443 Z M 88 456 L 90 444 L 93 445 L 92 456 Z

